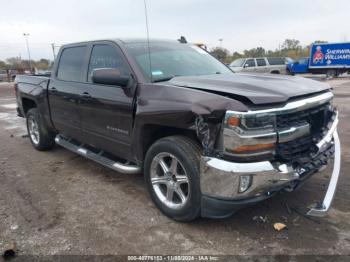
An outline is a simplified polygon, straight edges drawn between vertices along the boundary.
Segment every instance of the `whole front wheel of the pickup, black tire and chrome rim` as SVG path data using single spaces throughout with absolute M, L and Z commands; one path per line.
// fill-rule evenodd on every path
M 177 168 L 172 165 L 176 161 Z M 144 162 L 145 181 L 153 202 L 163 214 L 181 222 L 200 216 L 199 165 L 200 147 L 187 137 L 165 137 L 149 148 Z

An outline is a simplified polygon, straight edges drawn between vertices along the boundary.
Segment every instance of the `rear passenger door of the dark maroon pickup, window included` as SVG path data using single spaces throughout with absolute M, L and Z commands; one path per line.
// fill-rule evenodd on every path
M 87 45 L 63 48 L 48 88 L 50 113 L 54 126 L 59 133 L 76 139 L 81 135 L 78 103 L 86 74 L 87 59 Z

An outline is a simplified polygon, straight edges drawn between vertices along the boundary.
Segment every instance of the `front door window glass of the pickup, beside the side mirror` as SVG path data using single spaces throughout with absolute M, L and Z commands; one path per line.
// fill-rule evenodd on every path
M 122 53 L 108 44 L 94 45 L 89 63 L 89 82 L 91 82 L 92 71 L 98 68 L 115 68 L 118 69 L 120 75 L 130 74 L 130 70 L 124 62 Z

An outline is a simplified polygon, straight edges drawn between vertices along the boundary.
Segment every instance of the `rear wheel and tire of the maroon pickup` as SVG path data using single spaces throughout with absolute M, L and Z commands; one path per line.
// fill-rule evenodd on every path
M 55 134 L 46 126 L 37 108 L 27 114 L 27 131 L 33 147 L 39 151 L 52 149 L 55 145 Z

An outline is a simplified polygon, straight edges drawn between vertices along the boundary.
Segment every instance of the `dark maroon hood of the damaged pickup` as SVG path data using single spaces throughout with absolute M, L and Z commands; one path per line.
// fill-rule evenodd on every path
M 169 81 L 180 87 L 243 96 L 253 104 L 283 103 L 287 100 L 329 90 L 325 83 L 296 76 L 243 74 L 179 76 Z

